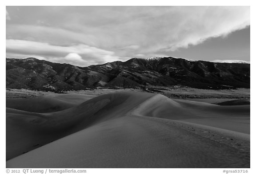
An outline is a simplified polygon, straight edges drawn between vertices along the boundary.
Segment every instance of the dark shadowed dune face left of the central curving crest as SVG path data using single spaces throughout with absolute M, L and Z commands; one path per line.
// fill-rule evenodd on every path
M 11 159 L 96 122 L 124 116 L 129 109 L 151 96 L 150 93 L 106 94 L 51 113 L 6 108 L 6 158 Z

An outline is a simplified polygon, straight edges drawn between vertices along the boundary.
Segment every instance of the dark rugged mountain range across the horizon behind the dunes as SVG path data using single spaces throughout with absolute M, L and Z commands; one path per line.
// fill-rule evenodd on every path
M 88 67 L 36 58 L 6 58 L 6 88 L 80 90 L 184 85 L 198 89 L 250 88 L 250 64 L 132 58 Z

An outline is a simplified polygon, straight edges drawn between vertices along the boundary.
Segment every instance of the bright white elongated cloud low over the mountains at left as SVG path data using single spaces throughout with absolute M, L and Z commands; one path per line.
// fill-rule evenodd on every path
M 7 39 L 6 52 L 7 55 L 36 55 L 44 60 L 60 63 L 68 62 L 78 66 L 103 64 L 108 61 L 119 60 L 119 57 L 112 51 L 84 44 L 55 46 L 48 43 Z

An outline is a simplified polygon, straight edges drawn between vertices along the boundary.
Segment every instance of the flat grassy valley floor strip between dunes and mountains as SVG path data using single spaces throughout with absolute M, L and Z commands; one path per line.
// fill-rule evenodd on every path
M 98 88 L 90 90 L 78 90 L 78 91 L 67 91 L 65 93 L 78 93 L 78 94 L 87 94 L 93 96 L 99 96 L 107 93 L 115 92 L 147 92 L 144 89 L 107 89 L 107 88 Z M 157 92 L 156 92 L 157 91 Z M 168 88 L 152 86 L 148 88 L 148 92 L 159 93 L 168 98 L 177 98 L 190 101 L 203 101 L 207 103 L 219 103 L 222 101 L 229 101 L 232 99 L 250 99 L 250 89 L 239 88 L 239 89 L 195 89 L 189 88 L 186 86 L 173 86 Z M 6 98 L 30 98 L 36 96 L 42 96 L 48 93 L 54 92 L 44 92 L 44 91 L 35 91 L 29 89 L 6 89 Z

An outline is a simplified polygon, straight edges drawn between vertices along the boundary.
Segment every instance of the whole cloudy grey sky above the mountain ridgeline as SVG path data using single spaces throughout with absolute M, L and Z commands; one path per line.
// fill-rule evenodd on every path
M 249 6 L 6 6 L 6 57 L 250 61 Z

